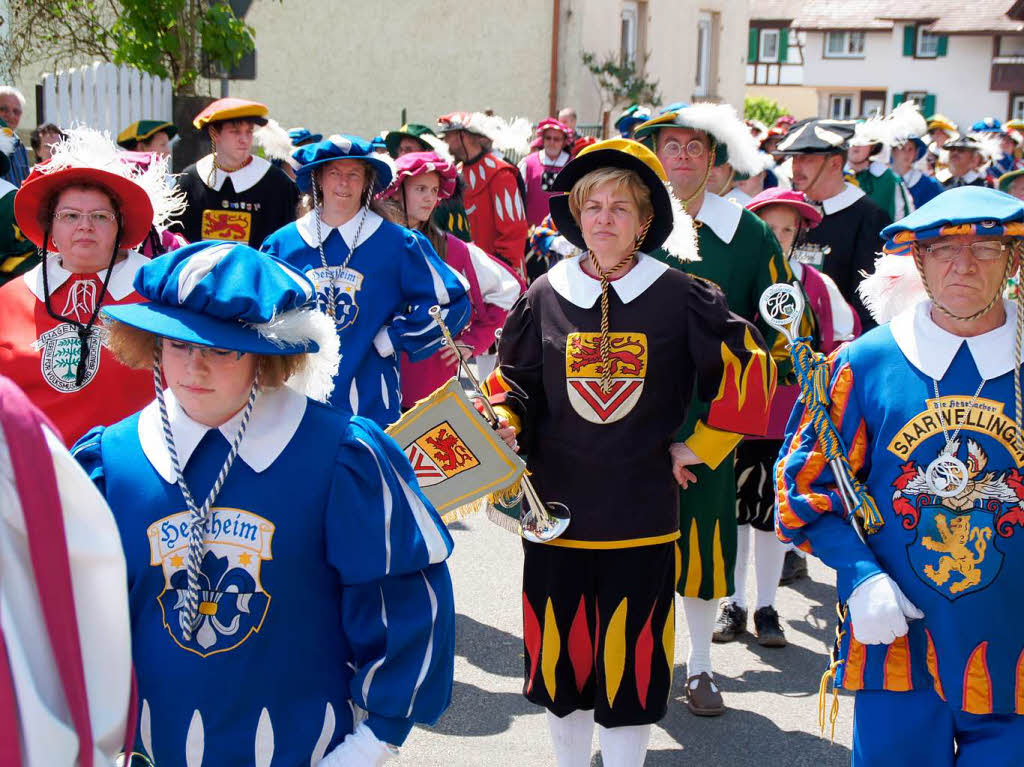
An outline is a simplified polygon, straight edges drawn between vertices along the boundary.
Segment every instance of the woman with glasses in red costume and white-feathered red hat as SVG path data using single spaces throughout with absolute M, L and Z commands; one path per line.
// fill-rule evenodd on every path
M 18 228 L 42 262 L 0 288 L 0 370 L 59 429 L 67 444 L 152 398 L 145 374 L 111 356 L 103 306 L 134 303 L 132 248 L 153 223 L 141 172 L 91 130 L 70 131 L 14 198 Z

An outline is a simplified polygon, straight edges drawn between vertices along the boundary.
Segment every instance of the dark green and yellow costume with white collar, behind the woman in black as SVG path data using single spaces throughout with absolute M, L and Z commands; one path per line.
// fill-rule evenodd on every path
M 749 210 L 714 195 L 706 195 L 694 223 L 699 261 L 679 261 L 660 250 L 652 255 L 688 274 L 715 283 L 725 294 L 729 309 L 754 322 L 765 289 L 774 283 L 794 280 L 775 236 Z M 781 378 L 791 369 L 785 339 L 764 323 L 756 325 L 770 344 Z M 707 417 L 708 410 L 708 402 L 696 398 L 691 401 L 686 422 L 677 433 L 679 441 L 693 433 L 694 424 Z M 685 597 L 719 599 L 735 590 L 734 454 L 716 469 L 703 464 L 690 469 L 696 475 L 696 483 L 679 492 L 678 545 L 682 567 L 676 590 Z

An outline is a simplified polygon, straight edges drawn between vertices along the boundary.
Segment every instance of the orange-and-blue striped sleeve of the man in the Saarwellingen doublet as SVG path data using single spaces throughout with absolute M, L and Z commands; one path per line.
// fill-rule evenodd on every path
M 870 468 L 867 424 L 854 389 L 848 349 L 844 346 L 828 359 L 828 417 L 847 448 L 850 468 L 863 479 Z M 810 411 L 797 402 L 775 464 L 775 530 L 782 541 L 797 544 L 836 569 L 836 585 L 845 601 L 859 583 L 882 570 L 846 520 L 836 476 L 811 419 Z

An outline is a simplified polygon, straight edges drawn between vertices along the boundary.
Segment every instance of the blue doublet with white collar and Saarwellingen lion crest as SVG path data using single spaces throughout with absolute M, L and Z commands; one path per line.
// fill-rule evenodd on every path
M 919 304 L 831 360 L 831 418 L 885 525 L 865 546 L 843 520 L 830 469 L 799 406 L 776 471 L 777 525 L 837 569 L 842 600 L 885 572 L 925 613 L 892 644 L 857 642 L 847 619 L 838 676 L 844 687 L 934 690 L 953 711 L 1024 714 L 1016 308 L 1006 302 L 1002 327 L 963 339 L 932 323 L 930 307 Z M 968 470 L 967 485 L 948 498 L 926 480 L 947 443 L 943 425 Z

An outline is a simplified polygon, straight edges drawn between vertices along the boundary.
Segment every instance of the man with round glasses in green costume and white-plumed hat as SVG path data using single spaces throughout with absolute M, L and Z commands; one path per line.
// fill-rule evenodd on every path
M 767 167 L 767 156 L 760 154 L 749 128 L 728 104 L 672 104 L 658 117 L 639 125 L 634 135 L 657 154 L 673 193 L 693 217 L 697 229 L 699 261 L 681 263 L 660 251 L 653 255 L 714 283 L 722 289 L 733 312 L 755 322 L 761 293 L 773 283 L 793 282 L 793 272 L 767 224 L 741 206 L 709 191 L 708 182 L 714 169 L 725 163 L 737 173 L 760 173 Z M 758 327 L 769 342 L 779 375 L 785 376 L 792 366 L 784 339 L 764 324 Z M 691 402 L 687 421 L 676 434 L 677 441 L 731 442 L 731 448 L 735 448 L 738 436 L 709 433 L 697 427 L 708 408 L 708 402 L 696 399 Z M 748 554 L 737 554 L 736 550 L 735 455 L 729 448 L 718 455 L 723 453 L 726 458 L 714 468 L 709 465 L 694 468 L 696 483 L 680 491 L 678 545 L 682 577 L 677 591 L 683 597 L 683 612 L 690 633 L 686 702 L 697 716 L 719 716 L 725 711 L 722 694 L 712 677 L 715 613 L 719 599 L 734 592 L 737 555 Z M 766 623 L 759 630 L 778 629 L 778 615 L 766 606 L 770 612 L 760 613 Z M 745 610 L 741 615 L 730 613 L 724 617 L 734 633 L 746 630 Z

